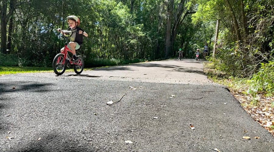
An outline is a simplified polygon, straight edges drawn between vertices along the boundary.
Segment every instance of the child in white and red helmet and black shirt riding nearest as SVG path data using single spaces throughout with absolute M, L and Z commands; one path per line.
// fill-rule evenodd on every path
M 72 62 L 76 62 L 78 61 L 78 57 L 76 55 L 76 51 L 77 49 L 80 48 L 80 45 L 83 43 L 83 35 L 84 36 L 88 36 L 88 34 L 81 28 L 79 28 L 80 25 L 80 19 L 77 16 L 68 16 L 67 17 L 67 21 L 68 21 L 68 31 L 72 31 L 74 33 L 72 33 L 72 36 L 70 37 L 70 42 L 68 43 L 68 48 L 70 50 L 72 50 Z M 62 33 L 62 31 L 60 31 L 60 28 L 57 29 L 58 32 Z M 78 33 L 76 33 L 78 32 Z M 63 34 L 63 33 L 62 33 Z M 61 49 L 61 52 L 64 50 L 64 47 Z

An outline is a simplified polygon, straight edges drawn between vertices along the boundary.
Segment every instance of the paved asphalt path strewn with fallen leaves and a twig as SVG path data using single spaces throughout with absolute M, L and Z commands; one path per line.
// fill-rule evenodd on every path
M 0 76 L 0 151 L 273 151 L 274 137 L 202 62 Z

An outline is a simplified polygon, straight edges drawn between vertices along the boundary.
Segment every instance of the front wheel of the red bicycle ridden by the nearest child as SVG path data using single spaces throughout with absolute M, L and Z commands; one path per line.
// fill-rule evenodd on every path
M 63 64 L 63 61 L 65 60 L 64 58 L 64 54 L 57 54 L 54 59 L 53 59 L 53 63 L 52 63 L 52 67 L 53 67 L 53 71 L 55 74 L 57 75 L 61 75 L 65 72 L 66 70 L 66 64 L 67 64 L 67 60 L 65 60 L 65 64 Z

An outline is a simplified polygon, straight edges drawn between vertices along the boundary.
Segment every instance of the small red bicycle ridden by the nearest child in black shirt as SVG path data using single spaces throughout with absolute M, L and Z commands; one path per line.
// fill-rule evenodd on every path
M 76 74 L 80 74 L 82 73 L 82 71 L 84 70 L 84 59 L 82 56 L 78 55 L 78 61 L 77 62 L 72 62 L 72 57 L 69 56 L 68 52 L 71 52 L 71 50 L 69 50 L 69 48 L 67 47 L 68 45 L 68 38 L 72 36 L 71 31 L 67 31 L 67 30 L 60 30 L 62 31 L 62 35 L 63 37 L 66 39 L 66 43 L 65 43 L 65 47 L 64 50 L 57 54 L 54 59 L 53 59 L 53 63 L 52 63 L 52 67 L 53 67 L 53 71 L 55 74 L 57 75 L 61 75 L 65 72 L 66 67 L 73 67 L 73 70 Z

